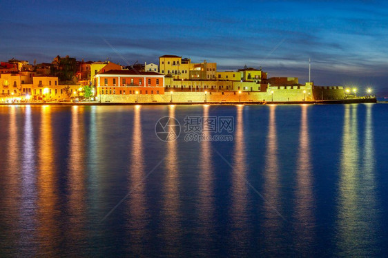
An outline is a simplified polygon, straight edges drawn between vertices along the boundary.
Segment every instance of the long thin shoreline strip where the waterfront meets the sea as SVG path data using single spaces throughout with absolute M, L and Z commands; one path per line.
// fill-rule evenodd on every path
M 53 106 L 166 106 L 166 105 L 326 105 L 326 104 L 357 104 L 357 103 L 386 103 L 377 101 L 376 98 L 362 98 L 362 99 L 349 99 L 349 100 L 313 100 L 313 101 L 269 101 L 269 102 L 253 102 L 253 101 L 241 101 L 241 102 L 188 102 L 188 103 L 98 103 L 98 102 L 81 102 L 81 103 L 0 103 L 0 105 L 53 105 Z

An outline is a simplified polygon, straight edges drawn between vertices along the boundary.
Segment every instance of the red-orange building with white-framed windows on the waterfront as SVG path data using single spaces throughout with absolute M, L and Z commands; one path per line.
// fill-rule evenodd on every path
M 97 94 L 164 94 L 164 75 L 157 72 L 110 70 L 95 75 Z

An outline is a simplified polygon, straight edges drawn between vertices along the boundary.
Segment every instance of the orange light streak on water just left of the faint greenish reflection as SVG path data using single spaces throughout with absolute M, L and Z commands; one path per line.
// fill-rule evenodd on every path
M 68 237 L 81 242 L 86 225 L 86 153 L 84 108 L 72 106 L 68 159 Z

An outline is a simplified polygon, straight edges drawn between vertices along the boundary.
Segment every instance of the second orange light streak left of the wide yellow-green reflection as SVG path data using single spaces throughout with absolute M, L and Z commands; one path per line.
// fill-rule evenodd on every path
M 270 254 L 278 253 L 282 241 L 282 217 L 279 193 L 278 137 L 276 135 L 276 105 L 269 105 L 269 128 L 266 137 L 263 233 L 264 250 Z

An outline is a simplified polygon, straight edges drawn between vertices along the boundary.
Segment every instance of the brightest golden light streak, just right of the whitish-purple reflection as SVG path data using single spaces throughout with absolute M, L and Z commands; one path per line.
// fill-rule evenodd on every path
M 52 146 L 51 107 L 41 107 L 41 125 L 38 153 L 38 208 L 37 233 L 42 252 L 47 255 L 59 255 L 59 224 L 56 221 L 58 193 L 55 186 L 55 148 Z

